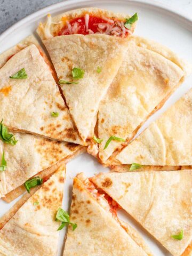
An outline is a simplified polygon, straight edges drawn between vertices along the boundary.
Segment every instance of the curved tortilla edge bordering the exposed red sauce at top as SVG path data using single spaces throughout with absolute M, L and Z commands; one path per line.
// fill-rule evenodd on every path
M 117 18 L 119 21 L 125 22 L 126 19 L 130 18 L 130 15 L 123 13 L 115 13 L 105 9 L 99 9 L 96 7 L 81 8 L 76 10 L 70 10 L 65 13 L 61 13 L 55 17 L 51 17 L 50 14 L 47 15 L 47 21 L 44 23 L 39 23 L 37 28 L 37 33 L 42 40 L 50 39 L 57 36 L 59 31 L 66 26 L 66 22 L 72 19 L 84 17 L 85 14 L 93 15 L 99 18 Z M 133 23 L 130 29 L 130 34 L 133 33 L 135 29 L 136 22 Z

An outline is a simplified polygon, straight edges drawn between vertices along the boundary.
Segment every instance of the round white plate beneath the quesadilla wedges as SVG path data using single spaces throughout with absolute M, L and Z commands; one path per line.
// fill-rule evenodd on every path
M 0 47 L 1 52 L 9 49 L 9 47 L 17 44 L 21 39 L 35 33 L 36 27 L 39 21 L 42 21 L 47 13 L 57 15 L 58 13 L 68 11 L 71 9 L 77 9 L 86 6 L 95 6 L 100 8 L 109 9 L 115 12 L 123 12 L 134 14 L 138 12 L 139 22 L 135 34 L 154 39 L 155 41 L 162 43 L 174 52 L 177 52 L 180 57 L 192 62 L 192 21 L 182 17 L 177 11 L 170 11 L 157 3 L 151 5 L 150 1 L 141 0 L 139 1 L 80 1 L 70 0 L 55 5 L 46 7 L 36 13 L 33 13 L 25 19 L 19 21 L 11 28 L 7 29 L 0 36 Z M 166 7 L 166 6 L 164 6 Z M 36 33 L 35 33 L 36 35 Z M 192 85 L 192 77 L 189 77 L 183 85 L 175 92 L 172 97 L 165 103 L 164 107 L 158 111 L 150 120 L 145 124 L 153 121 L 158 117 L 160 113 L 170 106 L 174 101 L 181 97 Z M 143 126 L 143 127 L 145 127 Z M 73 161 L 67 164 L 67 180 L 65 182 L 63 207 L 68 210 L 70 207 L 71 189 L 73 183 L 73 177 L 78 172 L 85 172 L 87 176 L 92 176 L 94 173 L 106 172 L 107 168 L 103 168 L 92 156 L 83 154 L 76 157 Z M 16 200 L 15 200 L 16 201 Z M 10 209 L 15 203 L 6 204 L 0 199 L 0 217 Z M 161 214 L 161 213 L 159 213 Z M 133 219 L 129 217 L 125 212 L 119 213 L 120 218 L 131 223 L 136 229 L 138 229 L 147 244 L 151 248 L 151 251 L 156 256 L 170 255 L 164 247 L 162 247 L 155 239 L 153 239 L 145 230 L 143 230 Z M 60 244 L 59 253 L 62 255 L 63 237 L 65 230 L 60 232 Z M 137 255 L 132 255 L 137 256 Z

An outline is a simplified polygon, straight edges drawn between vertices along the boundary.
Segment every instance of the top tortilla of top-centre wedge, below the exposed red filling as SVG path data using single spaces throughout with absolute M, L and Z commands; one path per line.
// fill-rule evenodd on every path
M 61 89 L 81 138 L 92 138 L 99 103 L 117 74 L 129 41 L 93 34 L 56 36 L 43 43 L 59 79 L 73 81 L 73 68 L 85 71 L 78 84 L 62 84 Z

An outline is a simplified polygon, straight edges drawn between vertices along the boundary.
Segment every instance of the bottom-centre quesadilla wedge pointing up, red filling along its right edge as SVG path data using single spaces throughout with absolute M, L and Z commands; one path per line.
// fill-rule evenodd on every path
M 115 201 L 106 198 L 83 174 L 74 179 L 70 220 L 77 228 L 68 228 L 63 256 L 151 255 L 136 231 L 118 219 Z

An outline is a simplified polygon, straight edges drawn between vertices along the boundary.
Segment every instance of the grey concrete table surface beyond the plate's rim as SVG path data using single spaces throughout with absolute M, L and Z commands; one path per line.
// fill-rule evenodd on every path
M 45 6 L 62 1 L 63 0 L 0 0 L 0 34 L 27 15 Z M 145 0 L 141 1 L 145 2 Z M 153 2 L 163 3 L 173 9 L 178 9 L 182 14 L 185 14 L 186 17 L 192 19 L 192 0 L 151 0 L 151 3 Z

